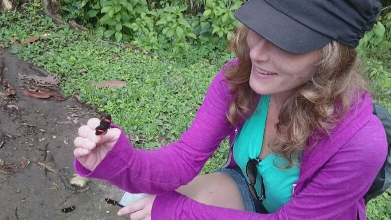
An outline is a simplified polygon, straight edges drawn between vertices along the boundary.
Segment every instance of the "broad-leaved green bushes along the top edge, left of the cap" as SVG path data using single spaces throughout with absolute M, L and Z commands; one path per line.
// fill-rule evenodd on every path
M 236 27 L 233 12 L 242 4 L 239 0 L 65 0 L 62 9 L 65 19 L 95 26 L 98 37 L 182 55 L 189 44 L 200 42 L 197 36 L 208 41 L 219 37 L 225 43 Z

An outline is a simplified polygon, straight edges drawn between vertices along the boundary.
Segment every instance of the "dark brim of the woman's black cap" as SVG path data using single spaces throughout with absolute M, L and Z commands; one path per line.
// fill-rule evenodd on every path
M 235 17 L 277 47 L 294 54 L 316 50 L 331 41 L 263 0 L 245 3 L 235 11 Z

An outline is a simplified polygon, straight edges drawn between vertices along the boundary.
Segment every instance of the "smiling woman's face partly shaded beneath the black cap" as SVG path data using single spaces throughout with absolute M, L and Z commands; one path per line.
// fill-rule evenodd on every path
M 289 37 L 289 36 L 287 36 Z M 306 54 L 284 51 L 250 30 L 247 36 L 252 70 L 250 87 L 258 94 L 291 96 L 314 75 L 320 50 Z

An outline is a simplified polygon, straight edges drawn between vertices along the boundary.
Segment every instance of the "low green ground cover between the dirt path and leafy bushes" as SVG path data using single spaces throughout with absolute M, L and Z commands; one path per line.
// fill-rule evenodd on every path
M 142 139 L 133 141 L 138 148 L 157 148 L 177 140 L 191 123 L 216 72 L 230 58 L 223 54 L 222 59 L 206 59 L 201 54 L 213 57 L 217 53 L 194 46 L 178 60 L 148 56 L 123 45 L 103 43 L 92 32 L 75 33 L 54 25 L 40 10 L 41 5 L 33 1 L 23 6 L 23 13 L 0 14 L 0 47 L 11 47 L 21 59 L 56 74 L 67 96 L 77 94 L 80 101 L 110 113 L 126 133 Z M 45 37 L 27 45 L 11 43 L 12 37 L 22 42 L 36 35 Z M 367 72 L 377 71 L 370 76 L 375 100 L 391 110 L 389 60 L 368 57 L 365 64 Z M 88 72 L 81 74 L 81 69 Z M 118 89 L 92 85 L 102 80 L 123 80 L 128 85 Z M 219 168 L 227 152 L 225 141 L 202 172 Z M 391 218 L 390 192 L 369 202 L 368 219 Z

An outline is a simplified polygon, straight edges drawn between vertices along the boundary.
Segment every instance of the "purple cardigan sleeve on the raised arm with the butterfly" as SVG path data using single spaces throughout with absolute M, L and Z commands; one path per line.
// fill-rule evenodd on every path
M 158 194 L 187 184 L 233 130 L 226 120 L 232 95 L 222 72 L 213 80 L 194 121 L 178 141 L 155 150 L 140 150 L 132 147 L 122 131 L 94 171 L 76 158 L 75 170 L 82 176 L 106 179 L 132 193 Z

